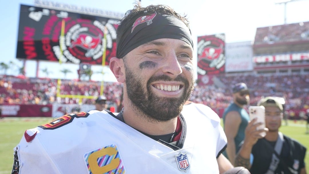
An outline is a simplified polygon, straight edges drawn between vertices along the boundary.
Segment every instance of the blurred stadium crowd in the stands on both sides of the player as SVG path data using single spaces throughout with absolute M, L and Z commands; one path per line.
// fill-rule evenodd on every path
M 211 107 L 221 117 L 223 110 L 232 101 L 231 86 L 244 82 L 250 89 L 250 104 L 256 105 L 264 96 L 286 99 L 285 109 L 290 117 L 309 108 L 309 75 L 219 75 L 221 85 L 197 85 L 191 101 Z M 0 80 L 0 104 L 52 104 L 80 103 L 80 98 L 57 97 L 57 85 L 61 95 L 99 96 L 101 82 L 2 76 Z M 104 95 L 110 103 L 121 105 L 122 85 L 104 82 Z M 94 103 L 94 99 L 82 99 L 83 104 Z

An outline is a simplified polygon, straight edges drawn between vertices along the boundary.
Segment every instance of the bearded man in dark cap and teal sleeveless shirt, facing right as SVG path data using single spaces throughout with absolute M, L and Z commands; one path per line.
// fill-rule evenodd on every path
M 249 90 L 245 83 L 237 83 L 233 87 L 233 102 L 223 113 L 224 132 L 227 138 L 227 147 L 223 155 L 234 164 L 239 144 L 245 137 L 245 128 L 248 125 L 249 115 L 244 106 L 249 104 Z

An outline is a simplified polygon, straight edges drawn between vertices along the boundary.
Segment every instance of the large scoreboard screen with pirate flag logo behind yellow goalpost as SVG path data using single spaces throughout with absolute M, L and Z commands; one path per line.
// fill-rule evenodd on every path
M 17 58 L 109 64 L 119 19 L 20 6 Z

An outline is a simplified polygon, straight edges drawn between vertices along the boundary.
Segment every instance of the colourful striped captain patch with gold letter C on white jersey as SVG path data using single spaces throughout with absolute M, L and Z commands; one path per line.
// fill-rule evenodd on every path
M 125 166 L 115 144 L 84 154 L 89 174 L 124 174 Z

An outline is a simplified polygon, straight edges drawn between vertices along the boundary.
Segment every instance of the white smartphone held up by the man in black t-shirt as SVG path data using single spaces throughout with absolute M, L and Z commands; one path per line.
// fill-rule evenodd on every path
M 265 107 L 264 106 L 249 106 L 250 120 L 257 118 L 256 123 L 263 123 L 257 127 L 257 130 L 265 128 Z M 266 132 L 261 132 L 260 136 L 265 136 Z

